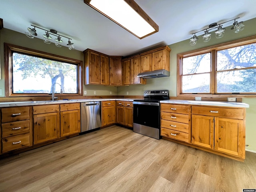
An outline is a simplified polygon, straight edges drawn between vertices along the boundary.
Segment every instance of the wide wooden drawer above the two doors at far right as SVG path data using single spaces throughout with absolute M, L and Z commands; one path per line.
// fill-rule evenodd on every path
M 192 106 L 192 114 L 243 119 L 243 109 Z

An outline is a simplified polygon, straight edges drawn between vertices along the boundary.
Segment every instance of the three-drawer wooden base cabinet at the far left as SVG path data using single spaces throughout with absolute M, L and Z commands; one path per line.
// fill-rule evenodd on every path
M 30 106 L 1 109 L 1 153 L 32 146 L 30 113 Z

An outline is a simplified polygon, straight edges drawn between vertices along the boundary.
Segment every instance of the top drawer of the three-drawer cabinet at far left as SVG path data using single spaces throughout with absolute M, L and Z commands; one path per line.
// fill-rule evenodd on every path
M 29 119 L 30 107 L 2 108 L 2 123 Z

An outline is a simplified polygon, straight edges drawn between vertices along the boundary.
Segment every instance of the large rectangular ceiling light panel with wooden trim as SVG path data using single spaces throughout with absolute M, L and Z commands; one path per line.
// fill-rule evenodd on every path
M 158 25 L 133 0 L 84 0 L 84 3 L 140 39 L 158 32 Z

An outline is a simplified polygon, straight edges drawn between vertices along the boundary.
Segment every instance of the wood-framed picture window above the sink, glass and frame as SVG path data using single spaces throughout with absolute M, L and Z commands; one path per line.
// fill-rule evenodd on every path
M 81 94 L 82 61 L 10 44 L 5 46 L 8 96 L 49 95 L 52 87 L 55 93 L 62 90 L 64 95 Z

